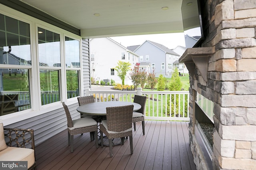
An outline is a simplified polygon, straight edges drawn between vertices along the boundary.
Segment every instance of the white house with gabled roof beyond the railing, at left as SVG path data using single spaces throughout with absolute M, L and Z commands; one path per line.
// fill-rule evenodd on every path
M 90 76 L 95 81 L 103 80 L 107 83 L 112 79 L 122 84 L 114 69 L 118 66 L 118 61 L 129 62 L 132 69 L 138 62 L 138 55 L 109 37 L 90 39 Z M 132 85 L 130 72 L 131 70 L 127 72 L 124 83 Z

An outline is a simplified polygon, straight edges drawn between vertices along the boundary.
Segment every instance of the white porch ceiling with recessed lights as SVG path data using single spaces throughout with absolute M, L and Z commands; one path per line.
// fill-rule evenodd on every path
M 183 32 L 182 0 L 21 1 L 77 27 L 84 38 Z

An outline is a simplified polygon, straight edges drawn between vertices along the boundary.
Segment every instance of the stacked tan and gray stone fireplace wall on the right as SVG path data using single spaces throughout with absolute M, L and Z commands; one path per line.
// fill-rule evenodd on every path
M 256 0 L 201 0 L 205 40 L 213 47 L 207 82 L 190 76 L 190 147 L 207 166 L 194 137 L 196 94 L 214 102 L 213 169 L 256 169 Z

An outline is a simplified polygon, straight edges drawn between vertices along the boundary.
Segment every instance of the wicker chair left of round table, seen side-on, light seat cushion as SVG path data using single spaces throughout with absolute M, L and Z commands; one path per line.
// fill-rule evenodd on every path
M 80 119 L 72 120 L 72 117 L 68 110 L 68 106 L 65 104 L 65 102 L 62 102 L 62 105 L 66 112 L 66 117 L 68 121 L 68 145 L 71 145 L 71 152 L 73 152 L 74 135 L 87 132 L 94 132 L 94 139 L 96 139 L 96 148 L 98 148 L 98 138 L 96 136 L 98 134 L 97 122 L 91 117 L 83 117 Z

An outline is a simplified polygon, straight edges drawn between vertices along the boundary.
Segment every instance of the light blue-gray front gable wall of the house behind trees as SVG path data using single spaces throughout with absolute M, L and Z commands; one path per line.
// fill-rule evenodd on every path
M 162 74 L 163 76 L 166 75 L 166 69 L 161 69 L 161 63 L 164 63 L 166 68 L 166 53 L 164 51 L 162 51 L 155 45 L 152 45 L 152 43 L 145 41 L 145 43 L 143 43 L 138 49 L 136 49 L 135 53 L 143 56 L 143 61 L 140 61 L 139 59 L 139 63 L 151 63 L 150 72 L 153 72 L 152 64 L 155 64 L 154 73 L 156 73 L 156 77 L 159 77 L 160 74 Z M 149 61 L 146 61 L 146 55 L 149 55 Z

